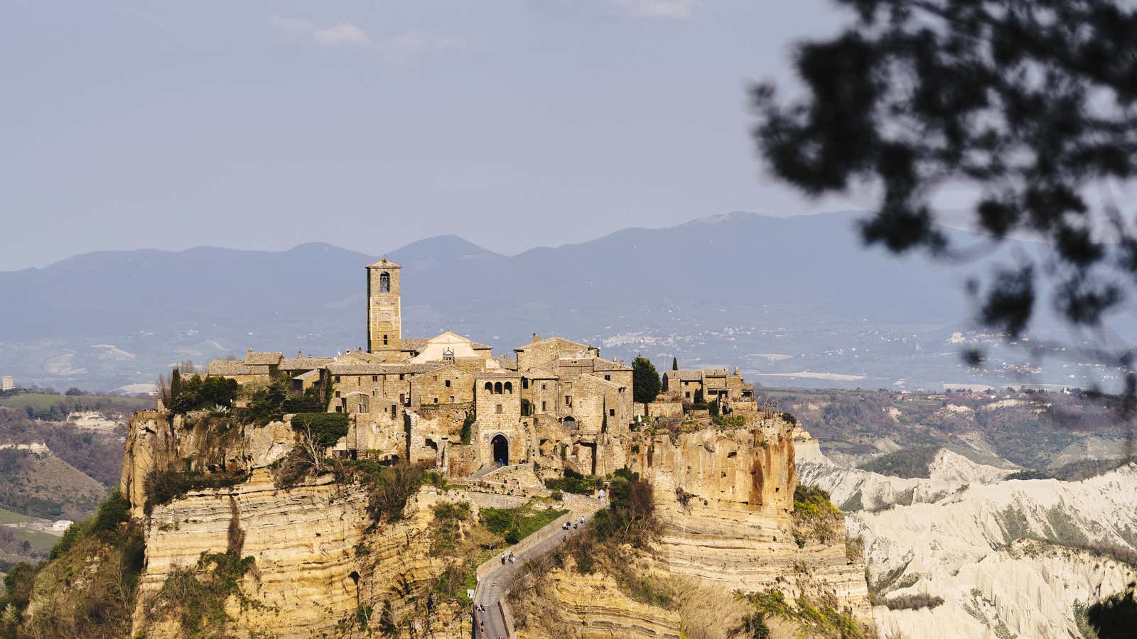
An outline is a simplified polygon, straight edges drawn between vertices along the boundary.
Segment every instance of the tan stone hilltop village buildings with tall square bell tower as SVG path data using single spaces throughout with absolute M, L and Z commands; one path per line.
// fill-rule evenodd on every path
M 341 456 L 424 462 L 459 475 L 523 462 L 594 474 L 625 464 L 621 435 L 637 415 L 631 366 L 536 333 L 512 358 L 451 331 L 406 338 L 401 265 L 384 258 L 366 271 L 366 350 L 289 358 L 249 349 L 243 359 L 210 362 L 208 374 L 241 384 L 284 376 L 294 393 L 330 389 L 327 410 L 350 416 Z M 664 380 L 675 392 L 697 383 L 708 401 L 753 401 L 754 387 L 737 368 L 669 373 L 682 374 Z

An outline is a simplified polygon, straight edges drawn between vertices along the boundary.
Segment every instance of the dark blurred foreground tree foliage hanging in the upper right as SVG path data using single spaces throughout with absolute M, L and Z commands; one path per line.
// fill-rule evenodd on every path
M 980 325 L 1010 341 L 1049 306 L 1070 345 L 1024 357 L 1093 359 L 1137 409 L 1137 9 L 1119 0 L 837 0 L 849 26 L 798 43 L 805 91 L 753 89 L 754 136 L 772 173 L 810 196 L 869 188 L 868 244 L 960 262 L 1012 233 L 1041 242 L 968 282 Z M 961 250 L 937 224 L 945 196 L 987 238 Z M 953 202 L 952 206 L 960 206 Z M 1032 322 L 1034 321 L 1034 322 Z M 1113 326 L 1111 326 L 1113 323 Z M 1128 333 L 1128 335 L 1126 334 Z M 1069 348 L 1067 348 L 1069 346 Z M 1023 347 L 1028 348 L 1028 347 Z M 1065 355 L 1061 355 L 1065 354 Z M 980 365 L 982 354 L 966 354 Z

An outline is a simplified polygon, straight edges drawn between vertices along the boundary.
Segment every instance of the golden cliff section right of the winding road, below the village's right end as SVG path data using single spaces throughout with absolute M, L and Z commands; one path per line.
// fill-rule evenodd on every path
M 770 591 L 824 601 L 871 625 L 864 564 L 848 551 L 844 525 L 819 539 L 794 517 L 794 425 L 755 417 L 740 428 L 638 433 L 630 467 L 654 487 L 656 541 L 617 550 L 615 562 L 589 571 L 567 561 L 526 583 L 532 588 L 515 597 L 520 625 L 532 632 L 553 606 L 568 613 L 557 617 L 555 636 L 735 637 L 754 614 L 736 594 Z M 707 614 L 708 605 L 716 613 Z M 781 624 L 785 636 L 825 634 L 799 621 L 769 625 Z

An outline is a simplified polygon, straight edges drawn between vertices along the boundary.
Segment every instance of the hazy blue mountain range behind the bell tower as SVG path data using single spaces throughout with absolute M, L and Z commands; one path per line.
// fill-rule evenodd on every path
M 766 384 L 980 381 L 948 339 L 964 326 L 965 274 L 981 265 L 866 249 L 857 217 L 736 213 L 515 256 L 443 235 L 385 257 L 404 265 L 406 337 L 450 329 L 508 352 L 538 332 L 616 358 L 642 352 L 661 366 L 675 355 L 691 366 L 822 374 L 756 377 Z M 90 252 L 2 272 L 0 373 L 109 389 L 247 347 L 357 348 L 364 266 L 376 257 L 326 243 L 200 247 Z

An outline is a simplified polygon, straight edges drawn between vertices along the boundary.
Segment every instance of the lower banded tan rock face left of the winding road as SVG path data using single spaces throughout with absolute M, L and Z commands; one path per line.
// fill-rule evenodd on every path
M 281 490 L 267 471 L 255 470 L 230 489 L 190 492 L 150 514 L 134 631 L 180 637 L 181 628 L 169 620 L 175 613 L 155 611 L 156 596 L 176 569 L 192 569 L 202 554 L 232 549 L 251 557 L 252 567 L 241 580 L 242 596 L 226 600 L 233 620 L 227 631 L 339 636 L 345 623 L 356 623 L 360 601 L 374 609 L 392 588 L 407 595 L 429 589 L 446 567 L 445 557 L 430 553 L 431 506 L 459 497 L 423 490 L 408 503 L 404 520 L 372 526 L 366 492 L 339 486 L 330 475 Z M 396 614 L 406 613 L 407 597 L 389 598 Z M 430 617 L 435 637 L 460 634 L 463 615 L 451 608 L 439 606 Z

